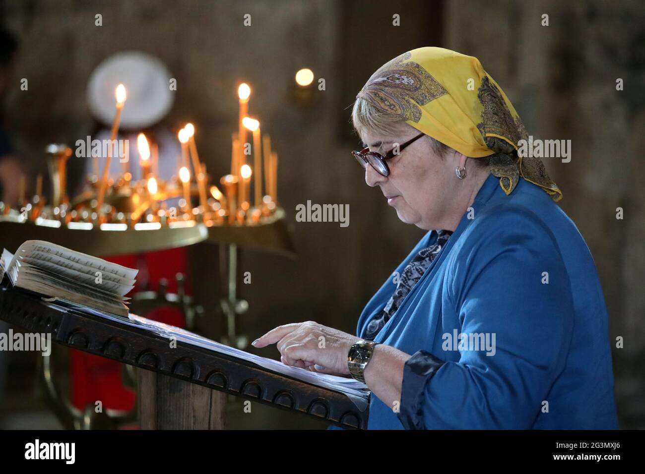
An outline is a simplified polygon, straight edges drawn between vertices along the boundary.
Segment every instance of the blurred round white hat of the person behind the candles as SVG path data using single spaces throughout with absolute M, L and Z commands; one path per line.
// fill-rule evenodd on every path
M 168 114 L 174 101 L 170 72 L 156 57 L 129 51 L 108 57 L 92 72 L 87 98 L 94 117 L 109 126 L 114 121 L 115 89 L 123 84 L 126 103 L 121 111 L 121 127 L 145 128 Z

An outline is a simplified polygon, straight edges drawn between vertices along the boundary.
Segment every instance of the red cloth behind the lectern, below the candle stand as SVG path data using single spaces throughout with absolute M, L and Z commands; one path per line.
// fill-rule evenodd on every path
M 130 293 L 159 288 L 159 280 L 168 281 L 168 293 L 177 292 L 175 274 L 184 274 L 184 290 L 190 290 L 188 278 L 188 250 L 186 247 L 148 252 L 137 255 L 119 255 L 106 258 L 107 261 L 130 268 L 138 268 L 137 282 Z M 130 294 L 129 293 L 129 294 Z M 143 314 L 146 318 L 172 324 L 183 328 L 186 324 L 182 313 L 175 308 L 161 307 L 150 313 Z M 69 355 L 72 404 L 83 410 L 88 404 L 94 405 L 101 400 L 103 408 L 114 410 L 132 410 L 135 402 L 135 392 L 121 383 L 121 364 L 116 360 L 106 359 L 98 355 L 88 354 L 79 350 L 70 350 Z

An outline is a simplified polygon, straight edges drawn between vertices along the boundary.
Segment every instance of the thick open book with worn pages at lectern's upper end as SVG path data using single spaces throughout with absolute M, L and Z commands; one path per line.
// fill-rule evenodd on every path
M 125 295 L 137 272 L 45 241 L 26 241 L 0 257 L 0 280 L 6 273 L 19 288 L 121 317 L 128 317 Z

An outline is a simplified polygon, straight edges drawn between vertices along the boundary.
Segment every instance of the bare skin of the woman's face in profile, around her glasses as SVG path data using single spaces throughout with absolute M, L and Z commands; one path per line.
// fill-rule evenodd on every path
M 385 155 L 394 143 L 405 143 L 418 134 L 418 130 L 403 124 L 397 135 L 379 135 L 367 130 L 361 135 L 370 151 Z M 461 184 L 457 181 L 461 180 L 455 175 L 455 166 L 459 164 L 459 157 L 455 152 L 440 157 L 433 152 L 430 141 L 421 137 L 386 161 L 390 168 L 388 177 L 368 165 L 365 182 L 381 188 L 401 221 L 425 230 L 453 230 L 452 223 L 459 222 L 464 212 L 459 208 L 462 199 L 457 199 Z M 455 217 L 458 218 L 455 220 Z

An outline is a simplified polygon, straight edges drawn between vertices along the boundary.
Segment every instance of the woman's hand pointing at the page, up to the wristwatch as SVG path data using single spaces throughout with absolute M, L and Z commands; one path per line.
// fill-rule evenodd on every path
M 284 324 L 255 339 L 257 348 L 277 343 L 283 364 L 313 372 L 349 375 L 347 354 L 360 337 L 313 321 Z

